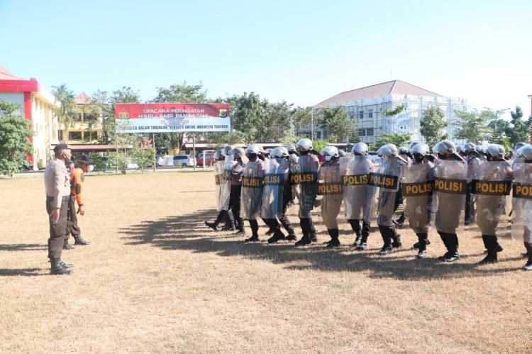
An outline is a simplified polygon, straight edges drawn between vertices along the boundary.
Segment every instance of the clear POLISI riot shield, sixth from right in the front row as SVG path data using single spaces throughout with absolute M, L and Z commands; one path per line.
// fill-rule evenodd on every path
M 375 187 L 368 184 L 372 172 L 375 172 L 375 167 L 368 155 L 340 157 L 343 201 L 348 219 L 369 221 L 374 217 Z

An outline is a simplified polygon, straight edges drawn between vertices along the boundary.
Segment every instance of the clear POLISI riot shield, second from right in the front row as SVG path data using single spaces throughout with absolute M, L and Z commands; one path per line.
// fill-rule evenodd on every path
M 471 182 L 477 196 L 477 225 L 482 235 L 506 236 L 510 223 L 506 219 L 506 201 L 511 191 L 511 167 L 506 161 L 483 160 L 478 179 Z

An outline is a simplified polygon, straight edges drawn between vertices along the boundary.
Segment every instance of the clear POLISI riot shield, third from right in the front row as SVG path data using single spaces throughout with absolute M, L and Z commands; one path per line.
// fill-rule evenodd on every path
M 433 221 L 436 230 L 457 233 L 464 224 L 467 163 L 438 160 L 434 167 Z

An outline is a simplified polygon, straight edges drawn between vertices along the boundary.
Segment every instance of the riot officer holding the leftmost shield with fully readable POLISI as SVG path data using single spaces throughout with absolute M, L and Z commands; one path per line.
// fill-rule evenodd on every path
M 249 162 L 245 164 L 242 175 L 240 212 L 241 217 L 250 223 L 252 233 L 250 238 L 245 239 L 245 242 L 260 241 L 257 219 L 260 218 L 262 209 L 262 182 L 265 166 L 264 161 L 259 159 L 261 150 L 257 144 L 248 145 L 248 148 L 245 149 L 245 155 Z

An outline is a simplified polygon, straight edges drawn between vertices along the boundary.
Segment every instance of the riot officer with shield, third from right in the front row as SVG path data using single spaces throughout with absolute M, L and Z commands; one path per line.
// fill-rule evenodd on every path
M 433 207 L 436 230 L 447 252 L 439 257 L 443 262 L 454 262 L 458 255 L 458 236 L 460 216 L 465 209 L 465 193 L 467 188 L 467 165 L 456 152 L 455 144 L 443 140 L 434 145 L 434 153 L 438 161 L 434 167 Z

